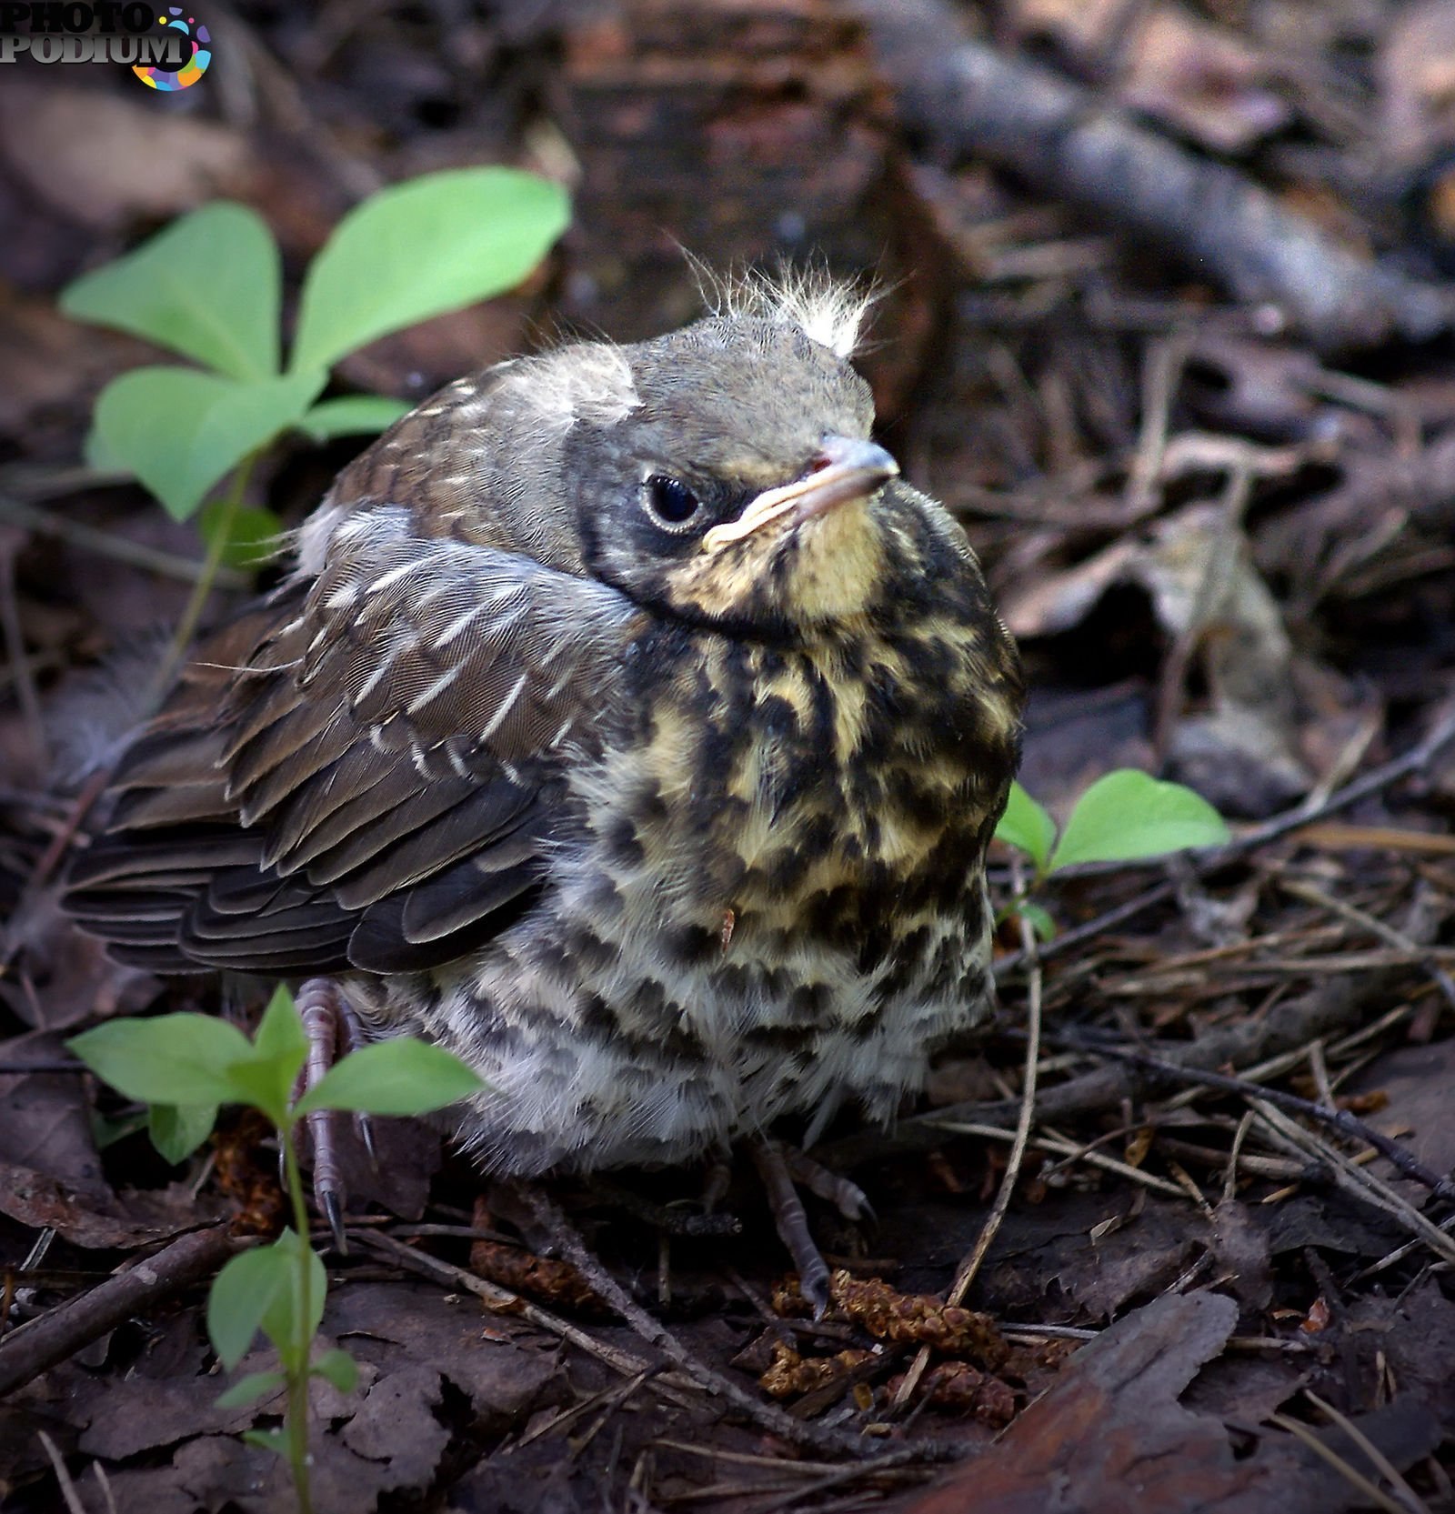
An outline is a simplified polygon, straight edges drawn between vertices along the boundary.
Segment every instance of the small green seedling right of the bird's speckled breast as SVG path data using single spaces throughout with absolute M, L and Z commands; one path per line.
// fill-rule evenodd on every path
M 1190 846 L 1219 846 L 1228 840 L 1228 825 L 1201 793 L 1136 768 L 1117 768 L 1081 795 L 1060 836 L 1045 808 L 1013 783 L 995 834 L 1027 852 L 1036 869 L 1007 913 L 1023 914 L 1037 936 L 1049 940 L 1055 925 L 1028 895 L 1052 874 L 1083 861 L 1133 861 Z

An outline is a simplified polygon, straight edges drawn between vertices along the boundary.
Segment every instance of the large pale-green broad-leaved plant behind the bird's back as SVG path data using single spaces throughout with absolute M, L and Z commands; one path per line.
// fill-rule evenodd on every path
M 136 368 L 95 404 L 86 453 L 141 480 L 177 519 L 238 469 L 210 542 L 232 537 L 248 462 L 282 431 L 316 441 L 379 431 L 409 406 L 322 400 L 354 348 L 518 285 L 560 236 L 566 192 L 515 168 L 457 168 L 380 189 L 339 221 L 309 265 L 282 360 L 282 256 L 263 220 L 217 201 L 61 295 L 77 321 L 111 326 L 201 368 Z M 276 527 L 274 527 L 276 528 Z M 251 533 L 259 533 L 256 528 Z

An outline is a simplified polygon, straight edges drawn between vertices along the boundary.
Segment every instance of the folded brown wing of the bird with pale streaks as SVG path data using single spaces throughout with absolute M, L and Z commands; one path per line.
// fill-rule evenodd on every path
M 157 970 L 427 967 L 536 889 L 565 754 L 640 612 L 509 553 L 347 519 L 209 643 L 115 780 L 68 908 Z

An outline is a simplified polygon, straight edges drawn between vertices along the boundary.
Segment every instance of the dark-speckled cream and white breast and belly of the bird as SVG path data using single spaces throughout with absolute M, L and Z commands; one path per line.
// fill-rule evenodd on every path
M 975 765 L 952 680 L 907 718 L 907 657 L 704 637 L 572 765 L 539 904 L 413 1014 L 491 1086 L 460 1128 L 488 1166 L 681 1160 L 843 1098 L 884 1119 L 983 1017 L 1013 759 Z

